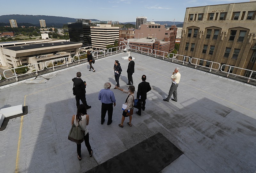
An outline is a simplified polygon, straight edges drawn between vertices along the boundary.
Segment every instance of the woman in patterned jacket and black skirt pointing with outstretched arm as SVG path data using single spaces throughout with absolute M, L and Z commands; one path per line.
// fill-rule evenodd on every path
M 131 127 L 132 126 L 132 114 L 133 114 L 133 102 L 134 102 L 135 87 L 133 85 L 129 86 L 128 91 L 118 88 L 118 86 L 115 86 L 115 89 L 118 89 L 120 91 L 123 91 L 123 93 L 128 94 L 126 101 L 125 101 L 125 105 L 127 105 L 127 107 L 123 111 L 121 124 L 118 124 L 118 126 L 124 127 L 124 119 L 125 119 L 125 117 L 129 117 L 129 122 L 127 122 L 127 124 Z M 130 112 L 128 112 L 129 109 L 130 109 Z

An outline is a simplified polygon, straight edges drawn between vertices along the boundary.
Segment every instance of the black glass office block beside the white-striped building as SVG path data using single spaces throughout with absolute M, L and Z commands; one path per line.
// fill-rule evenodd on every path
M 69 39 L 73 42 L 83 43 L 83 47 L 92 46 L 91 28 L 93 24 L 88 19 L 76 19 L 75 23 L 68 23 Z

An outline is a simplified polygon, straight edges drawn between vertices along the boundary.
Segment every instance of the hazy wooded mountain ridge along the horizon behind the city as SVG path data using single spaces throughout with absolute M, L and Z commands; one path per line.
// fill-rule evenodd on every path
M 10 14 L 10 15 L 2 15 L 0 16 L 0 23 L 9 24 L 10 19 L 15 19 L 17 21 L 18 26 L 21 23 L 29 23 L 34 26 L 40 26 L 39 20 L 45 20 L 47 27 L 62 27 L 63 24 L 67 24 L 68 22 L 76 22 L 76 18 L 68 18 L 68 17 L 58 17 L 58 16 L 45 16 L 45 15 L 21 15 L 21 14 Z M 92 21 L 96 21 L 97 19 L 90 19 Z M 167 24 L 173 25 L 174 22 L 171 21 L 154 21 L 156 24 Z M 136 22 L 119 22 L 119 23 L 131 23 L 134 24 Z M 175 22 L 175 25 L 183 24 L 183 22 Z

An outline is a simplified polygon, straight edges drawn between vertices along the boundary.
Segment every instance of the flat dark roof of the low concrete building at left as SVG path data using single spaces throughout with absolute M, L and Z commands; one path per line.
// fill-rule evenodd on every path
M 36 49 L 36 48 L 42 48 L 42 47 L 53 47 L 53 46 L 64 46 L 64 45 L 72 45 L 72 44 L 78 44 L 78 42 L 61 41 L 61 42 L 51 42 L 51 43 L 36 43 L 36 44 L 3 47 L 3 48 L 14 50 L 14 51 L 19 51 L 19 50 L 28 50 L 28 49 Z

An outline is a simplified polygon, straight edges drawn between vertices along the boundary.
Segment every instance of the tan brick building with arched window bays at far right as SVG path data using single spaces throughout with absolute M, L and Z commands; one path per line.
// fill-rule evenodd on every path
M 249 77 L 248 70 L 256 71 L 255 7 L 256 1 L 188 7 L 179 54 L 202 59 L 199 65 L 205 67 L 211 66 L 210 61 L 235 66 L 221 70 Z

